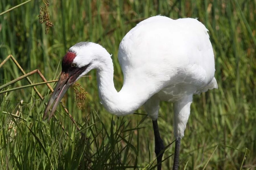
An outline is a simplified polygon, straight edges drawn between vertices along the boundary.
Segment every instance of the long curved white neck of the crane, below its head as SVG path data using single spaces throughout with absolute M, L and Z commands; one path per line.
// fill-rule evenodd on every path
M 147 97 L 139 89 L 124 84 L 117 92 L 113 83 L 113 62 L 110 57 L 104 60 L 103 65 L 97 69 L 97 82 L 99 97 L 104 107 L 114 115 L 124 116 L 133 114 L 146 102 Z

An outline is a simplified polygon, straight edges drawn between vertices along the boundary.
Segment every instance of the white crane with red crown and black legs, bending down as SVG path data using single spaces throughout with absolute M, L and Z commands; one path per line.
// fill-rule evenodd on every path
M 44 118 L 55 101 L 48 119 L 51 118 L 70 85 L 96 69 L 99 97 L 110 113 L 125 116 L 144 105 L 153 122 L 157 169 L 161 169 L 164 153 L 157 124 L 159 102 L 173 102 L 176 138 L 173 169 L 178 169 L 180 140 L 189 118 L 192 96 L 218 88 L 207 31 L 192 18 L 172 20 L 153 16 L 137 24 L 119 45 L 118 60 L 124 76 L 119 92 L 114 87 L 113 62 L 107 50 L 92 42 L 77 43 L 63 57 L 62 72 Z

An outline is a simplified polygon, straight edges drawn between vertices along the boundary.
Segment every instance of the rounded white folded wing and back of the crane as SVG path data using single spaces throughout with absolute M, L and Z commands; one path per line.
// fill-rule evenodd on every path
M 143 89 L 139 90 L 146 89 L 148 93 L 179 83 L 189 88 L 187 93 L 217 87 L 214 54 L 207 31 L 201 22 L 192 18 L 172 20 L 154 16 L 140 22 L 119 45 L 124 86 L 136 87 L 135 84 L 143 83 L 147 87 L 141 86 Z

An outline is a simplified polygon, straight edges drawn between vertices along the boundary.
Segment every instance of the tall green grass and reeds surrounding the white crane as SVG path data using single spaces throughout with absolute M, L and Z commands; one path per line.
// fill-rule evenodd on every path
M 0 12 L 24 2 L 0 2 Z M 194 96 L 185 137 L 181 140 L 180 169 L 255 169 L 256 166 L 256 4 L 254 0 L 205 1 L 56 1 L 49 3 L 53 27 L 45 34 L 39 6 L 32 0 L 0 16 L 0 58 L 12 54 L 26 73 L 39 69 L 47 80 L 57 78 L 59 62 L 77 42 L 93 41 L 113 54 L 114 83 L 122 86 L 117 60 L 122 37 L 144 18 L 162 14 L 191 17 L 209 30 L 214 48 L 219 89 Z M 11 61 L 0 68 L 0 86 L 21 76 Z M 95 71 L 79 83 L 87 91 L 85 108 L 77 109 L 74 91 L 63 103 L 82 129 L 81 135 L 59 106 L 56 119 L 42 121 L 49 99 L 46 85 L 0 95 L 0 169 L 154 169 L 154 135 L 144 108 L 140 115 L 116 117 L 99 103 Z M 33 83 L 42 82 L 38 75 Z M 3 90 L 28 85 L 23 79 Z M 54 86 L 54 83 L 51 83 Z M 22 100 L 22 102 L 21 102 Z M 20 114 L 17 118 L 11 114 Z M 172 104 L 161 103 L 158 119 L 165 145 L 163 169 L 174 153 Z M 65 130 L 61 128 L 58 122 Z

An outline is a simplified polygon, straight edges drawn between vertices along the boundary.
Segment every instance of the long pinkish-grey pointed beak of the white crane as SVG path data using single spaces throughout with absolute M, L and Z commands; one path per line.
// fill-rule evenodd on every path
M 53 107 L 51 108 L 51 113 L 48 117 L 48 121 L 51 119 L 51 117 L 53 116 L 55 110 L 57 109 L 57 106 L 59 104 L 59 102 L 61 101 L 61 98 L 65 95 L 67 89 L 73 84 L 72 82 L 69 81 L 69 74 L 66 74 L 64 72 L 61 72 L 61 75 L 59 77 L 59 81 L 53 91 L 53 94 L 46 106 L 46 109 L 44 111 L 44 116 L 43 119 L 45 120 L 46 116 L 47 116 L 47 112 L 50 110 L 51 105 L 53 104 L 53 102 L 55 101 Z

